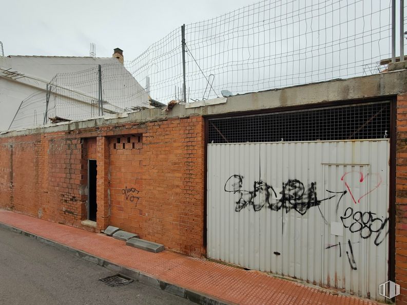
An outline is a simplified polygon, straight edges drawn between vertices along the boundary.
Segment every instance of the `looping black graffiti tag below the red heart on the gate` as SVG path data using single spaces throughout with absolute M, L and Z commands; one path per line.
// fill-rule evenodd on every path
M 371 237 L 373 233 L 377 233 L 374 243 L 376 246 L 379 246 L 386 235 L 389 234 L 389 218 L 381 219 L 375 217 L 375 215 L 372 212 L 354 212 L 353 208 L 348 207 L 340 218 L 343 227 L 349 229 L 352 233 L 359 232 L 360 237 L 363 239 Z

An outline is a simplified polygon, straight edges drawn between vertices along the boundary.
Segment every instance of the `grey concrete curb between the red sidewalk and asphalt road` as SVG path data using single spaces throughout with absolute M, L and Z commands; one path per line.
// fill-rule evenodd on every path
M 154 288 L 159 288 L 161 290 L 164 290 L 166 292 L 169 292 L 171 294 L 175 294 L 179 297 L 185 298 L 190 300 L 191 302 L 194 303 L 198 303 L 201 305 L 226 305 L 228 303 L 225 303 L 224 301 L 221 301 L 215 297 L 197 292 L 197 291 L 192 291 L 192 290 L 188 290 L 182 287 L 179 287 L 175 284 L 171 284 L 168 283 L 166 281 L 162 281 L 159 278 L 156 278 L 152 275 L 143 273 L 139 270 L 135 270 L 135 269 L 131 269 L 131 268 L 127 268 L 127 267 L 123 267 L 123 266 L 119 266 L 111 261 L 105 260 L 103 258 L 94 256 L 92 254 L 86 253 L 84 251 L 81 250 L 76 250 L 74 248 L 71 248 L 69 246 L 65 246 L 62 243 L 58 243 L 56 241 L 35 235 L 33 233 L 15 228 L 13 226 L 7 225 L 6 223 L 0 222 L 0 228 L 18 233 L 18 234 L 22 234 L 25 235 L 27 237 L 31 237 L 34 238 L 40 242 L 46 243 L 49 246 L 52 246 L 56 249 L 68 252 L 72 255 L 75 255 L 77 257 L 80 257 L 84 260 L 90 261 L 95 263 L 96 265 L 102 266 L 106 269 L 109 269 L 111 271 L 120 273 L 122 275 L 125 275 L 129 278 L 132 278 L 135 281 L 139 281 L 142 282 L 144 284 L 147 284 L 148 286 L 152 286 Z

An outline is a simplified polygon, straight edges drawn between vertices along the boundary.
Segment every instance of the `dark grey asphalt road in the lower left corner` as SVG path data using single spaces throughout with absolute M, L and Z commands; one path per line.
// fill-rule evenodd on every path
M 0 228 L 0 304 L 192 304 L 140 282 L 110 287 L 115 273 Z

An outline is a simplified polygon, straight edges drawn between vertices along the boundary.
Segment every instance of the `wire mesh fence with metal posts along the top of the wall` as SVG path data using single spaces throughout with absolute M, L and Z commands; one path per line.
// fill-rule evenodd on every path
M 380 60 L 391 57 L 391 5 L 391 0 L 265 0 L 185 25 L 185 101 L 379 73 L 386 68 Z M 102 65 L 105 113 L 149 107 L 151 99 L 184 101 L 182 38 L 180 27 L 124 67 Z M 97 65 L 57 74 L 50 86 L 54 115 L 99 115 Z M 22 104 L 26 111 L 27 103 L 40 105 L 38 97 L 30 97 Z M 23 117 L 17 113 L 20 124 L 12 128 L 26 127 Z

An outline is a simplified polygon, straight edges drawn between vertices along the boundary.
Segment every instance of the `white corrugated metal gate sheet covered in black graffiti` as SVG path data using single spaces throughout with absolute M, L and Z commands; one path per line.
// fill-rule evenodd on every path
M 208 256 L 380 300 L 389 140 L 208 145 Z

